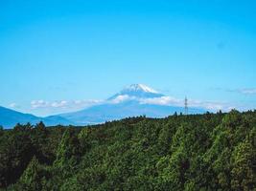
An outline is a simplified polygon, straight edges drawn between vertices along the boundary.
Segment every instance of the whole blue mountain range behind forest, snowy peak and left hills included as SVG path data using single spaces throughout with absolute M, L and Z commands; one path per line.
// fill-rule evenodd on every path
M 32 124 L 43 121 L 47 126 L 54 125 L 88 125 L 104 123 L 125 117 L 147 116 L 168 117 L 176 113 L 183 113 L 180 106 L 162 104 L 165 96 L 143 84 L 132 84 L 114 96 L 105 99 L 101 104 L 91 106 L 78 112 L 60 114 L 50 117 L 35 117 L 8 108 L 0 107 L 0 125 L 12 128 L 16 123 Z M 190 114 L 202 114 L 201 108 L 189 108 Z

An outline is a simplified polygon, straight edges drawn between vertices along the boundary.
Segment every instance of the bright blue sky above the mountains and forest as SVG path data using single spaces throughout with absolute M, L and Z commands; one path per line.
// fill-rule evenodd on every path
M 143 83 L 254 109 L 255 10 L 254 0 L 1 1 L 0 105 L 47 116 Z

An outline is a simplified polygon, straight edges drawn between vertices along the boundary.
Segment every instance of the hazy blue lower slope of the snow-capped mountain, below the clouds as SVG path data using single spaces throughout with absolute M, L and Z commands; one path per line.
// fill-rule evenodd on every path
M 174 113 L 182 113 L 182 107 L 140 104 L 138 101 L 125 101 L 118 104 L 102 104 L 76 113 L 63 114 L 71 121 L 78 124 L 97 124 L 105 121 L 121 119 L 125 117 L 168 117 Z M 190 109 L 190 114 L 203 113 L 201 109 Z

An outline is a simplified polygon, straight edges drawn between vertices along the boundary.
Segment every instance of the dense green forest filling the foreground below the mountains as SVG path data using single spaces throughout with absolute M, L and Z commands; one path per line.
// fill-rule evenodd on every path
M 256 111 L 0 129 L 0 190 L 255 190 Z

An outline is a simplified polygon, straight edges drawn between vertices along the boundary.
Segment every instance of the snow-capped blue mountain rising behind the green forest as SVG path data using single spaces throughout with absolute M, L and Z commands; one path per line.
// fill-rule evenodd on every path
M 97 124 L 124 117 L 168 117 L 184 112 L 184 107 L 171 105 L 172 98 L 143 84 L 132 84 L 103 103 L 75 113 L 61 114 L 76 124 Z M 167 104 L 168 103 L 168 104 Z M 190 108 L 190 114 L 201 114 L 200 108 Z

